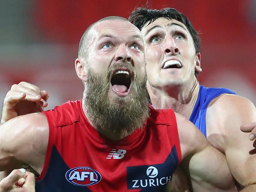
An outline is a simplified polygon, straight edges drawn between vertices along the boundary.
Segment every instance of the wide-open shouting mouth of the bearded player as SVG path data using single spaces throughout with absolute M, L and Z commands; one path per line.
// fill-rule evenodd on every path
M 132 83 L 131 72 L 128 70 L 116 70 L 111 77 L 110 83 L 116 94 L 126 96 L 130 92 Z

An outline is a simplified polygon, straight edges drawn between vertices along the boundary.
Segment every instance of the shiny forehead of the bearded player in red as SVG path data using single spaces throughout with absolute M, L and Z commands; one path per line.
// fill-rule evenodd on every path
M 125 20 L 105 20 L 95 24 L 91 30 L 95 39 L 102 35 L 112 35 L 117 38 L 137 38 L 142 40 L 141 31 L 129 21 Z

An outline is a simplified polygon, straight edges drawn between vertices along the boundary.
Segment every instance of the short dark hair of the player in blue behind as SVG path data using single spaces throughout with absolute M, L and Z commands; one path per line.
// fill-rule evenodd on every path
M 161 10 L 158 9 L 146 9 L 143 7 L 137 8 L 137 10 L 133 11 L 132 14 L 129 17 L 129 21 L 134 24 L 139 30 L 142 30 L 142 28 L 145 26 L 147 22 L 148 24 L 154 22 L 156 19 L 163 17 L 167 18 L 169 20 L 175 19 L 179 22 L 182 22 L 189 31 L 193 42 L 195 46 L 196 54 L 199 53 L 200 49 L 200 37 L 193 27 L 190 20 L 182 13 L 177 11 L 174 8 L 164 8 Z M 195 71 L 195 76 L 197 76 L 198 72 Z

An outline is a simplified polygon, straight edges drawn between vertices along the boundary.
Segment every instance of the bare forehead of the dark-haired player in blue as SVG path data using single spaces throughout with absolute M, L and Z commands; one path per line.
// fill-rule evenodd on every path
M 141 33 L 143 34 L 143 36 L 145 34 L 147 34 L 147 32 L 149 30 L 157 28 L 157 26 L 159 26 L 160 28 L 167 28 L 170 26 L 178 26 L 178 27 L 184 28 L 184 30 L 187 31 L 187 27 L 182 22 L 180 22 L 176 19 L 169 20 L 167 18 L 160 17 L 160 18 L 157 18 L 154 22 L 150 23 L 149 25 L 148 25 L 148 23 L 149 23 L 149 21 L 144 25 L 144 27 L 141 30 Z

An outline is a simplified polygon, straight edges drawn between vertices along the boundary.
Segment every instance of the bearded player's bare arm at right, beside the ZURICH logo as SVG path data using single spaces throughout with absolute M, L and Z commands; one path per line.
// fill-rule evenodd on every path
M 204 135 L 184 117 L 176 114 L 182 167 L 190 176 L 194 191 L 236 191 L 225 156 L 213 148 Z

